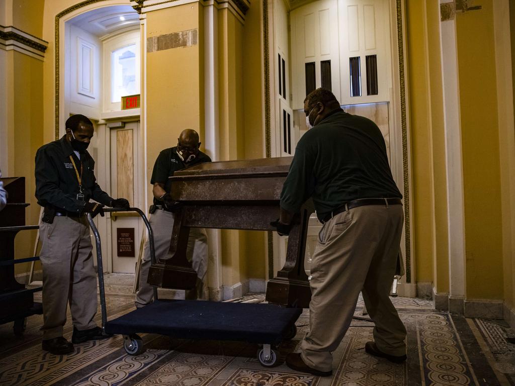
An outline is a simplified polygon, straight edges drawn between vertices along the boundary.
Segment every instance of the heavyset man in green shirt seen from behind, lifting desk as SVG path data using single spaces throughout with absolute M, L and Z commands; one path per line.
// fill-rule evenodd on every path
M 277 231 L 288 234 L 310 197 L 323 226 L 311 264 L 310 331 L 286 364 L 331 375 L 332 352 L 351 324 L 359 292 L 375 323 L 366 352 L 403 362 L 406 329 L 389 299 L 404 221 L 402 195 L 383 135 L 371 120 L 344 112 L 328 90 L 310 93 L 304 112 L 311 129 L 300 139 L 284 182 Z

